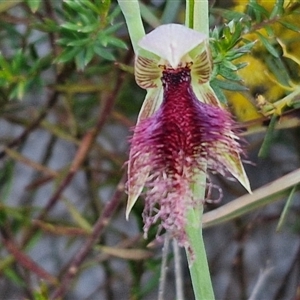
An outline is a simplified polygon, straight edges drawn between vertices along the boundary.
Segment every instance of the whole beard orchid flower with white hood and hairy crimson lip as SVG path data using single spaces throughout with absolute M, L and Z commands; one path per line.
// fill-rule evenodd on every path
M 131 138 L 126 217 L 142 193 L 144 231 L 161 221 L 186 246 L 188 208 L 199 172 L 235 177 L 250 191 L 234 121 L 209 85 L 212 62 L 204 34 L 161 25 L 138 43 L 135 78 L 147 90 Z M 203 184 L 203 183 L 199 183 Z

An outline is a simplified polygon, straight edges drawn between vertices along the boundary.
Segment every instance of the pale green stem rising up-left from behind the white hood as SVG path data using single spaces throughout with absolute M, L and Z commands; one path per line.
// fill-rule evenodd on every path
M 118 0 L 126 20 L 130 40 L 134 53 L 138 52 L 138 41 L 145 36 L 138 0 Z

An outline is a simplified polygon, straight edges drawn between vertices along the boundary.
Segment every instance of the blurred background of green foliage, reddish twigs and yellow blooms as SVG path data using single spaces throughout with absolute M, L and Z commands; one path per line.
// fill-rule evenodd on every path
M 147 32 L 184 22 L 184 1 L 140 3 Z M 210 5 L 212 86 L 256 189 L 300 165 L 300 3 Z M 142 200 L 124 214 L 133 60 L 116 1 L 0 1 L 0 299 L 156 298 L 161 244 L 143 239 Z M 245 193 L 215 180 L 208 211 Z M 279 200 L 204 230 L 217 299 L 300 299 L 297 187 Z M 170 254 L 166 300 L 172 268 Z

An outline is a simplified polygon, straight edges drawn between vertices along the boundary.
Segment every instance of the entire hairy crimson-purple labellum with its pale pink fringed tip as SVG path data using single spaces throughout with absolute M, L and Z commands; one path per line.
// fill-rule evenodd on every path
M 191 86 L 191 70 L 165 68 L 163 102 L 135 127 L 131 140 L 131 169 L 135 184 L 147 170 L 144 221 L 147 233 L 158 219 L 181 245 L 188 207 L 195 201 L 191 184 L 199 170 L 227 172 L 224 153 L 238 155 L 230 115 L 220 107 L 200 102 Z M 145 174 L 145 173 L 144 173 Z M 141 187 L 142 188 L 142 187 Z

